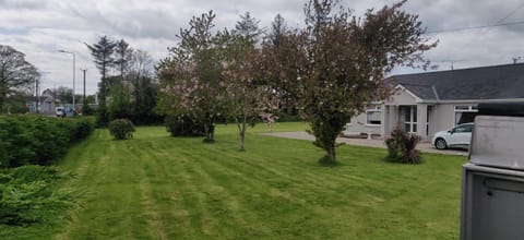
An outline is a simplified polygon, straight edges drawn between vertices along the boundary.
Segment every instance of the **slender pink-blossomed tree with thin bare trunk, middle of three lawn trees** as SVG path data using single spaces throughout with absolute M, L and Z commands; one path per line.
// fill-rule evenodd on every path
M 240 16 L 233 34 L 221 34 L 224 50 L 224 80 L 229 115 L 235 119 L 240 135 L 240 151 L 245 151 L 247 127 L 253 127 L 267 110 L 269 88 L 259 74 L 261 51 L 259 21 L 249 12 Z

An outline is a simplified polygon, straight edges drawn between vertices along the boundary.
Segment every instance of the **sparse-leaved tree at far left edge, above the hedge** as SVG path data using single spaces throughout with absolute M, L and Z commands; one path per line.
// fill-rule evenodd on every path
M 0 109 L 10 95 L 32 86 L 40 74 L 16 49 L 0 45 Z

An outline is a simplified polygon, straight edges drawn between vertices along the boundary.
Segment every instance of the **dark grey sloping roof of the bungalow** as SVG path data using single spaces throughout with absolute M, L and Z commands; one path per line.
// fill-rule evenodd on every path
M 524 98 L 524 63 L 393 75 L 424 100 Z

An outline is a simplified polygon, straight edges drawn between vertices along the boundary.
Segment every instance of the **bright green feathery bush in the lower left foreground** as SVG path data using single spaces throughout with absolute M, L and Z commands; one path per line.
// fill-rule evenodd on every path
M 72 205 L 71 193 L 55 188 L 67 177 L 53 167 L 41 166 L 0 171 L 0 224 L 27 226 L 52 220 Z

